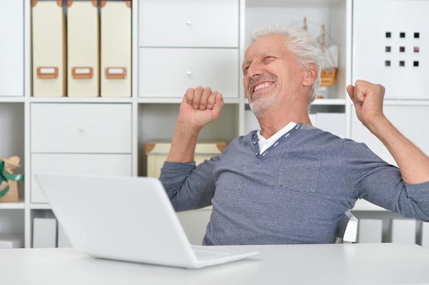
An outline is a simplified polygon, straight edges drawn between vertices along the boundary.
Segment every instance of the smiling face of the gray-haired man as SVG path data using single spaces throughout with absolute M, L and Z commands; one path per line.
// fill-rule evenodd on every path
M 270 107 L 281 107 L 291 92 L 299 92 L 303 70 L 286 49 L 286 37 L 270 35 L 249 46 L 243 60 L 243 75 L 247 100 L 258 116 Z

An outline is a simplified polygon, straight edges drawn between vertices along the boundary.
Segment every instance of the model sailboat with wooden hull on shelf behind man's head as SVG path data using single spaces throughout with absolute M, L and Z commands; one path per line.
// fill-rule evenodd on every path
M 307 30 L 307 18 L 304 18 L 304 29 Z M 336 73 L 338 72 L 338 45 L 326 44 L 325 25 L 321 25 L 321 35 L 317 37 L 321 50 L 325 55 L 325 64 L 321 70 L 320 87 L 333 86 L 336 84 Z

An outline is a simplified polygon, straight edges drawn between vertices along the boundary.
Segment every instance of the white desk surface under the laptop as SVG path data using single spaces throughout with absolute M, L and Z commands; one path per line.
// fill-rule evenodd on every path
M 429 284 L 429 250 L 399 243 L 249 246 L 247 260 L 190 270 L 101 260 L 75 249 L 0 249 L 7 285 Z

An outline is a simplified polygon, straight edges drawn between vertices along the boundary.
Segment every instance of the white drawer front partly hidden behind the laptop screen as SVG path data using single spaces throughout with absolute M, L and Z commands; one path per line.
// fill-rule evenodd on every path
M 34 174 L 56 172 L 132 176 L 131 154 L 32 154 L 31 201 L 46 203 Z

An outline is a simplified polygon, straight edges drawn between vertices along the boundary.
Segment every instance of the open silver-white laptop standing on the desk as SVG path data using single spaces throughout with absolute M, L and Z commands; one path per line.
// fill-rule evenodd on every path
M 191 245 L 157 178 L 35 177 L 73 247 L 90 256 L 197 269 L 258 254 Z

